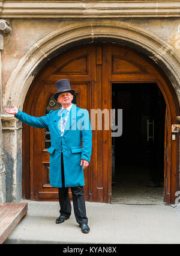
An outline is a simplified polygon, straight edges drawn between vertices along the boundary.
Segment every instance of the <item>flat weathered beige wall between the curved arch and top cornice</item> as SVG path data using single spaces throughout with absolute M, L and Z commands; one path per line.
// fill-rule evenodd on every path
M 115 22 L 127 26 L 143 28 L 147 32 L 154 33 L 157 37 L 166 40 L 175 49 L 180 57 L 180 17 L 179 18 L 127 18 L 112 19 Z M 2 52 L 2 90 L 17 63 L 23 58 L 29 48 L 38 40 L 43 39 L 53 31 L 63 29 L 68 25 L 89 23 L 91 25 L 98 22 L 107 22 L 107 19 L 11 19 L 12 32 L 4 39 L 4 51 Z M 92 30 L 92 41 L 93 30 Z

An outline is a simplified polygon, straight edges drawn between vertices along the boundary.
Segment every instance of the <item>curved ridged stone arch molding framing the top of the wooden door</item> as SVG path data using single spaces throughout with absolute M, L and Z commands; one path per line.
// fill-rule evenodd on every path
M 125 45 L 131 43 L 134 48 L 138 46 L 142 51 L 146 51 L 148 57 L 155 63 L 161 64 L 164 72 L 169 72 L 169 79 L 180 102 L 180 63 L 178 53 L 173 46 L 156 34 L 125 22 L 92 20 L 89 23 L 76 22 L 55 30 L 34 43 L 11 73 L 5 87 L 3 105 L 8 107 L 14 104 L 22 108 L 29 86 L 42 67 L 42 63 L 44 65 L 50 58 L 58 55 L 59 50 L 65 45 L 75 46 L 77 42 L 83 42 L 85 39 L 88 42 L 96 42 L 97 39 L 109 39 L 111 42 L 121 40 Z

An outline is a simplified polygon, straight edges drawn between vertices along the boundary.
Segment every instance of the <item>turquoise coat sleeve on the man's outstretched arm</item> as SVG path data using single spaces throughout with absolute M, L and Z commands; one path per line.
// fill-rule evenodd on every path
M 48 128 L 49 114 L 46 114 L 46 116 L 35 117 L 18 110 L 17 114 L 15 114 L 14 117 L 26 123 L 27 125 L 31 125 L 36 128 Z

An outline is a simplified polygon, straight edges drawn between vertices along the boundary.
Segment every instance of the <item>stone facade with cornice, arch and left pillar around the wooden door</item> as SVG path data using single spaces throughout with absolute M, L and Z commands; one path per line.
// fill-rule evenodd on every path
M 61 7 L 50 2 L 0 1 L 1 17 L 12 29 L 4 36 L 2 51 L 3 107 L 15 104 L 23 108 L 29 86 L 50 58 L 78 43 L 101 41 L 123 43 L 152 58 L 169 76 L 180 102 L 178 1 L 164 1 L 164 5 L 155 1 L 155 6 L 153 1 L 124 1 L 124 5 L 122 1 L 76 1 L 74 7 L 66 1 Z M 128 3 L 129 12 L 125 13 Z M 34 9 L 29 8 L 31 4 Z M 18 202 L 22 190 L 22 124 L 3 110 L 1 120 L 0 203 Z

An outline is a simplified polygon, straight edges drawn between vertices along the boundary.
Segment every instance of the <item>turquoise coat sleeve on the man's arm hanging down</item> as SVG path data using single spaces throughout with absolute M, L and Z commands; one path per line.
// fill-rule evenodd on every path
M 88 162 L 91 160 L 91 151 L 92 151 L 92 131 L 91 131 L 91 123 L 89 120 L 89 113 L 88 110 L 83 110 L 84 114 L 84 125 L 81 130 L 81 136 L 82 136 L 82 155 L 81 159 L 85 159 Z

